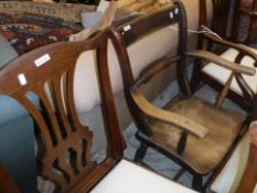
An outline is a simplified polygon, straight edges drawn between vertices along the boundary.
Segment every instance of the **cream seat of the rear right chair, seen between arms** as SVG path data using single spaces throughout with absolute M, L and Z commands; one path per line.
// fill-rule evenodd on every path
M 251 47 L 248 47 L 248 49 L 250 49 L 253 52 L 257 53 L 256 49 L 251 49 Z M 228 61 L 234 61 L 237 55 L 238 55 L 238 51 L 236 51 L 235 49 L 228 49 L 221 56 L 228 60 Z M 253 67 L 254 62 L 255 61 L 251 57 L 245 56 L 242 60 L 240 64 L 244 66 Z M 214 63 L 208 63 L 206 66 L 203 67 L 202 71 L 222 84 L 224 84 L 227 81 L 227 78 L 229 77 L 229 74 L 231 74 L 229 69 L 226 69 L 225 67 L 221 67 Z M 254 76 L 243 75 L 243 77 L 245 78 L 248 86 L 256 93 L 257 92 L 256 90 L 256 88 L 257 88 L 257 74 L 255 74 Z M 243 95 L 235 78 L 232 82 L 231 89 L 233 89 L 234 92 L 236 92 L 239 95 Z

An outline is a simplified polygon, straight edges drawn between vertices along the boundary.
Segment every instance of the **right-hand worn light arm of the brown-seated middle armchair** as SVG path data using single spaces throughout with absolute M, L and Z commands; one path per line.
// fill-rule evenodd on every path
M 255 75 L 256 71 L 254 67 L 247 67 L 243 66 L 238 63 L 234 63 L 231 61 L 227 61 L 216 54 L 213 54 L 211 52 L 204 51 L 204 50 L 199 50 L 199 51 L 192 51 L 186 53 L 188 56 L 191 57 L 200 57 L 210 62 L 213 62 L 219 66 L 226 67 L 235 73 L 242 73 L 242 74 L 247 74 L 247 75 Z

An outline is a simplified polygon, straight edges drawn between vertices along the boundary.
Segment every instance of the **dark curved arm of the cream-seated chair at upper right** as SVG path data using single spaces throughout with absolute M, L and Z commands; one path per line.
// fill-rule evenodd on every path
M 222 44 L 222 45 L 226 45 L 233 49 L 238 50 L 242 54 L 244 55 L 248 55 L 250 57 L 253 57 L 255 61 L 257 61 L 257 54 L 255 52 L 253 52 L 249 47 L 247 47 L 246 45 L 243 44 L 236 44 L 229 41 L 226 41 L 224 39 L 218 39 L 217 36 L 210 34 L 210 33 L 203 33 L 204 37 L 211 40 L 214 43 L 217 44 Z

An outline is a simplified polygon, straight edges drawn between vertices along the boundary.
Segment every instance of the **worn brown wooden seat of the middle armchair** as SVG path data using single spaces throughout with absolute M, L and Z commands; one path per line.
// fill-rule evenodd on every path
M 176 154 L 178 141 L 182 133 L 182 130 L 176 126 L 150 121 L 152 137 L 148 138 L 139 133 L 140 137 L 157 143 L 202 174 L 212 171 L 224 158 L 238 130 L 242 129 L 245 119 L 240 114 L 222 108 L 217 109 L 196 97 L 191 99 L 178 98 L 165 108 L 210 128 L 207 136 L 200 139 L 189 135 L 186 148 L 182 156 Z

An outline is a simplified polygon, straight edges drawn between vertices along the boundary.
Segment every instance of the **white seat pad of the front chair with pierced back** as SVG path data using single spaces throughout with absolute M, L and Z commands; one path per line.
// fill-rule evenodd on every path
M 90 193 L 194 193 L 183 185 L 170 181 L 127 160 L 121 160 Z

